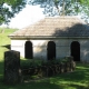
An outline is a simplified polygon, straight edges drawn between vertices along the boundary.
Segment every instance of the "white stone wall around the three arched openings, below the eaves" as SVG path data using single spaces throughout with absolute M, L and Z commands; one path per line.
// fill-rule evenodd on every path
M 32 42 L 33 58 L 47 59 L 47 44 L 49 41 L 56 43 L 56 58 L 60 59 L 70 56 L 70 46 L 72 41 L 80 43 L 80 60 L 89 60 L 89 41 L 88 39 L 46 39 L 46 40 L 11 40 L 11 50 L 20 51 L 20 55 L 24 57 L 24 43 L 26 41 Z

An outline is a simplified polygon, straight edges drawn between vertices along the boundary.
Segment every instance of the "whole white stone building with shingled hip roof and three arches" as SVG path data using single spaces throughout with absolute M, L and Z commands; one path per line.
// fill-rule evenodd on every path
M 89 60 L 89 26 L 77 17 L 49 17 L 9 36 L 11 50 L 28 59 Z

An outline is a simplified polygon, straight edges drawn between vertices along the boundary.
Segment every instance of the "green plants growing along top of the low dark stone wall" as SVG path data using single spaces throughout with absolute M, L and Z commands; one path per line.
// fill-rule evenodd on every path
M 21 68 L 28 69 L 30 67 L 52 66 L 70 62 L 69 58 L 43 60 L 43 59 L 21 59 Z

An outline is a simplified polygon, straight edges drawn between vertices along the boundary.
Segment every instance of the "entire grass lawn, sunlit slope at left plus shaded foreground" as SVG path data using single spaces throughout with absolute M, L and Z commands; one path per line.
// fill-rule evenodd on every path
M 89 89 L 89 65 L 77 63 L 73 72 L 60 73 L 50 78 L 18 83 L 16 86 L 3 82 L 3 55 L 9 50 L 10 39 L 7 37 L 14 30 L 0 33 L 0 89 Z

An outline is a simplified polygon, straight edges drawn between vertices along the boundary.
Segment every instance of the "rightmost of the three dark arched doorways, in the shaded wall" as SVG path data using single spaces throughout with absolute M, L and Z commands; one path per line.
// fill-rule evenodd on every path
M 71 42 L 71 56 L 75 61 L 80 61 L 80 43 L 78 41 Z

